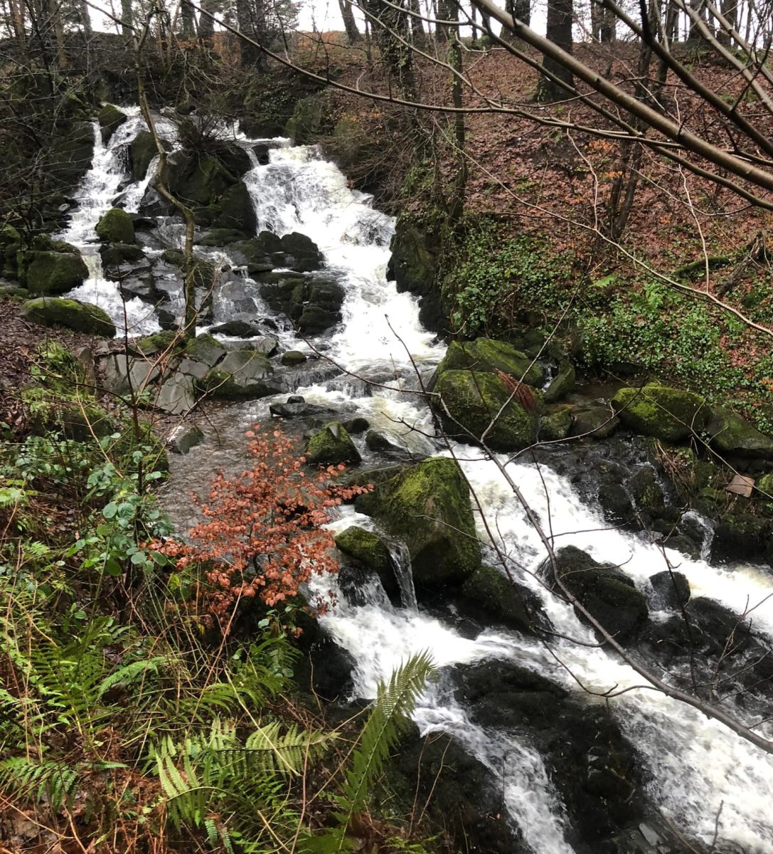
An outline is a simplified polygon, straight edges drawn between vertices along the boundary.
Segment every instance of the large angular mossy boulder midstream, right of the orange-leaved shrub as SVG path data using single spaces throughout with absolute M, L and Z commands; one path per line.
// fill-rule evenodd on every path
M 453 459 L 411 465 L 360 495 L 356 507 L 404 541 L 419 588 L 464 582 L 480 566 L 468 484 Z

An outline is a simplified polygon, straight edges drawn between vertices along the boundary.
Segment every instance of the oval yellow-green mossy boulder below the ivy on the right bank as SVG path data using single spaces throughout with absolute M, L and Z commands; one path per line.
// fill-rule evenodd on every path
M 612 402 L 620 420 L 631 430 L 663 442 L 682 442 L 700 432 L 711 415 L 701 395 L 654 383 L 641 389 L 620 389 Z

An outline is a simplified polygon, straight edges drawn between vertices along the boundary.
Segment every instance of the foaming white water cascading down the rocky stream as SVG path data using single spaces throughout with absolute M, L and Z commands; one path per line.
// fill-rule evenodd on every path
M 124 309 L 117 286 L 101 277 L 93 226 L 111 206 L 125 178 L 118 151 L 141 126 L 142 120 L 131 112 L 130 120 L 114 134 L 109 147 L 97 146 L 93 167 L 78 194 L 80 207 L 61 235 L 84 251 L 92 272 L 92 278 L 74 295 L 106 307 L 117 319 Z M 236 138 L 249 147 L 251 141 L 238 134 Z M 369 196 L 349 189 L 339 169 L 324 161 L 313 147 L 277 144 L 270 150 L 267 165 L 254 162 L 244 180 L 253 196 L 259 228 L 279 234 L 300 231 L 311 237 L 323 251 L 326 272 L 334 272 L 346 288 L 343 323 L 324 339 L 325 355 L 345 371 L 375 378 L 392 389 L 374 385 L 366 390 L 357 377 L 342 373 L 330 383 L 301 388 L 297 393 L 310 403 L 333 407 L 346 403 L 368 418 L 374 429 L 387 432 L 416 453 L 449 453 L 433 438 L 426 407 L 410 394 L 414 365 L 420 371 L 430 370 L 442 358 L 444 347 L 421 328 L 414 297 L 398 294 L 395 285 L 387 282 L 392 220 L 371 207 Z M 130 209 L 137 208 L 144 190 L 141 185 L 126 188 L 124 199 L 129 200 Z M 131 332 L 157 328 L 152 309 L 139 300 L 127 305 L 127 315 Z M 285 338 L 283 343 L 305 348 L 292 333 Z M 264 417 L 269 403 L 265 399 L 255 401 L 249 412 L 241 410 L 245 428 Z M 642 677 L 612 654 L 593 646 L 594 636 L 572 608 L 547 593 L 530 574 L 543 561 L 543 549 L 497 465 L 471 447 L 455 447 L 454 452 L 501 538 L 497 545 L 512 559 L 518 580 L 538 595 L 558 635 L 583 640 L 589 646 L 555 640 L 553 657 L 542 642 L 516 633 L 485 630 L 468 640 L 439 619 L 421 610 L 392 607 L 384 597 L 360 606 L 347 605 L 341 597 L 323 621 L 357 661 L 357 694 L 374 696 L 378 681 L 388 677 L 411 653 L 422 650 L 428 650 L 439 665 L 510 659 L 548 676 L 585 702 L 593 700 L 581 692 L 574 677 L 600 692 L 641 685 Z M 198 453 L 197 449 L 191 453 Z M 207 452 L 201 453 L 204 471 Z M 504 464 L 506 458 L 500 462 Z M 656 547 L 638 535 L 609 529 L 601 512 L 582 500 L 566 477 L 547 467 L 538 470 L 536 465 L 524 463 L 511 463 L 508 469 L 539 518 L 543 523 L 549 521 L 556 547 L 572 544 L 599 561 L 620 564 L 639 588 L 645 587 L 649 576 L 665 569 Z M 343 529 L 353 521 L 371 524 L 350 508 L 342 512 L 334 527 Z M 479 532 L 485 541 L 482 521 Z M 671 552 L 669 557 L 680 564 L 679 570 L 688 577 L 694 595 L 711 597 L 736 613 L 761 603 L 753 612 L 755 627 L 773 635 L 773 598 L 766 599 L 773 591 L 773 580 L 764 570 L 745 565 L 712 566 L 706 560 L 691 560 Z M 326 579 L 317 586 L 334 583 Z M 769 755 L 722 724 L 653 690 L 623 693 L 609 704 L 624 733 L 642 753 L 652 774 L 650 794 L 671 822 L 686 834 L 711 842 L 721 809 L 720 840 L 735 843 L 742 851 L 773 851 L 773 761 Z M 505 804 L 533 851 L 572 852 L 565 840 L 560 799 L 538 751 L 526 740 L 508 740 L 502 733 L 474 726 L 467 712 L 439 687 L 427 689 L 416 721 L 425 732 L 453 734 L 497 775 L 503 774 Z M 771 734 L 766 726 L 759 731 Z

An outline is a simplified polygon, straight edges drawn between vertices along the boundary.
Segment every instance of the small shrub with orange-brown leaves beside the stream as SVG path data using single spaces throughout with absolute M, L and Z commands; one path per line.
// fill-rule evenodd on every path
M 189 531 L 189 543 L 150 544 L 178 570 L 205 567 L 205 622 L 218 624 L 224 635 L 241 601 L 258 597 L 274 608 L 293 600 L 312 574 L 338 571 L 333 535 L 322 526 L 334 506 L 370 488 L 334 484 L 345 465 L 307 474 L 305 459 L 295 457 L 281 430 L 261 433 L 255 424 L 246 435 L 252 468 L 233 479 L 218 474 L 206 503 L 194 496 L 204 521 Z

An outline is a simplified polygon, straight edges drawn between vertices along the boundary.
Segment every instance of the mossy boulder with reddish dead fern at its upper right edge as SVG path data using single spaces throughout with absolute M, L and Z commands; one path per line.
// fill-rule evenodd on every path
M 487 447 L 516 451 L 537 438 L 538 398 L 533 409 L 511 400 L 510 389 L 496 374 L 444 371 L 434 391 L 433 409 L 443 429 L 462 442 L 479 442 L 485 433 Z

